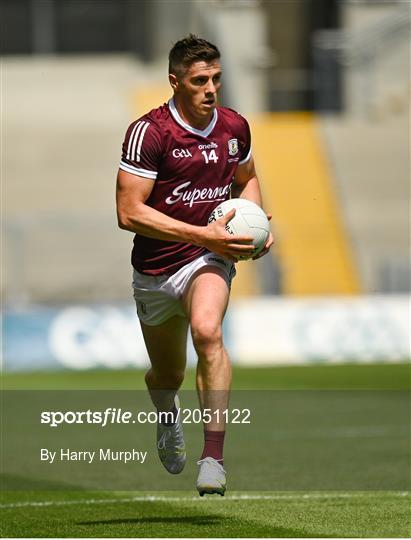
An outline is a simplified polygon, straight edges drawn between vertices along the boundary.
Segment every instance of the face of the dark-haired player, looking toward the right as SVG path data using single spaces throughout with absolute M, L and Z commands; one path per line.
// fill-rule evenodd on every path
M 194 62 L 185 73 L 176 78 L 173 86 L 180 105 L 194 118 L 208 118 L 217 106 L 221 87 L 221 64 Z

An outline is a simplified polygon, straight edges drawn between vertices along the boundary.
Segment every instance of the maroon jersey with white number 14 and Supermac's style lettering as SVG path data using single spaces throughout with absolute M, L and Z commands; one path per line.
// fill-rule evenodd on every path
M 214 208 L 229 198 L 237 166 L 250 159 L 250 144 L 248 123 L 237 112 L 217 107 L 209 125 L 199 130 L 184 122 L 171 99 L 129 126 L 120 169 L 154 182 L 148 206 L 207 225 Z M 205 252 L 136 234 L 132 264 L 143 274 L 171 275 Z

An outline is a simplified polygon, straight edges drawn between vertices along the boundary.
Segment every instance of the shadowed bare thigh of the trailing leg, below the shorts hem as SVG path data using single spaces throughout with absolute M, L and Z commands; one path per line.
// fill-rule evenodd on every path
M 168 380 L 184 377 L 187 319 L 174 316 L 157 326 L 140 324 L 153 370 Z

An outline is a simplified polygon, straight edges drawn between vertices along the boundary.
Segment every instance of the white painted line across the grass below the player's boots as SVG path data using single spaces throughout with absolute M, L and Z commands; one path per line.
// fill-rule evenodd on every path
M 394 496 L 406 497 L 409 495 L 405 492 L 391 492 Z M 167 497 L 162 495 L 144 495 L 136 497 L 126 497 L 117 499 L 78 499 L 72 501 L 25 501 L 17 503 L 0 504 L 0 508 L 25 508 L 25 507 L 42 507 L 42 506 L 70 506 L 74 504 L 121 504 L 129 502 L 204 502 L 204 501 L 260 501 L 260 500 L 306 500 L 306 499 L 349 499 L 353 497 L 364 497 L 367 493 L 305 493 L 295 495 L 231 495 L 228 497 L 213 497 L 200 498 L 198 495 L 193 497 Z

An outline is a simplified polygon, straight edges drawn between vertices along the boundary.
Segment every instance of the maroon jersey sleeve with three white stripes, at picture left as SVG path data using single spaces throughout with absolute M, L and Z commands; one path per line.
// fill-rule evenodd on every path
M 124 138 L 120 169 L 156 180 L 161 148 L 161 134 L 155 124 L 144 119 L 133 122 Z

